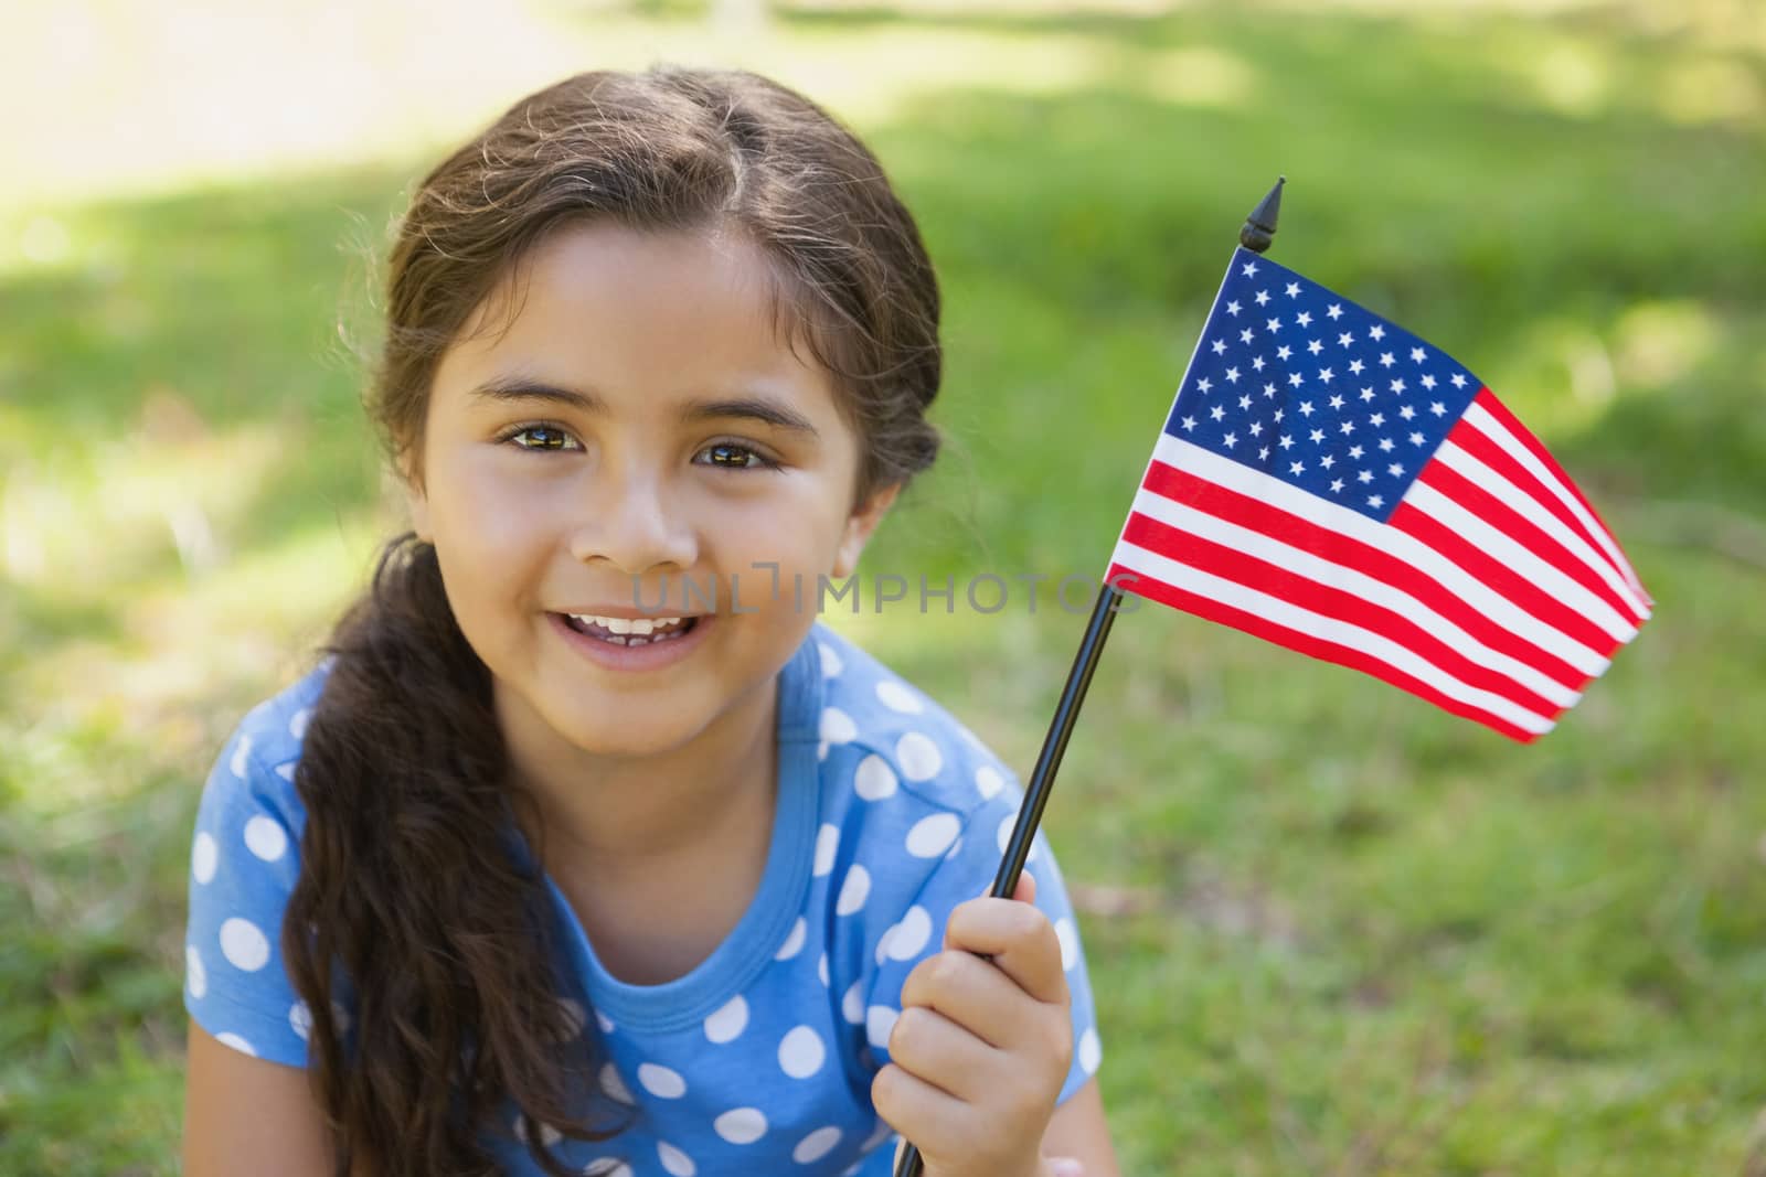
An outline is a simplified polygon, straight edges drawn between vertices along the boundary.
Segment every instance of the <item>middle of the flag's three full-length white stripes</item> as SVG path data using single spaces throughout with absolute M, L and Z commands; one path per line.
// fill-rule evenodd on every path
M 1526 662 L 1521 662 L 1512 655 L 1505 655 L 1499 649 L 1491 649 L 1476 637 L 1462 630 L 1455 621 L 1443 618 L 1439 612 L 1404 589 L 1393 588 L 1392 584 L 1370 577 L 1358 568 L 1333 563 L 1302 547 L 1294 547 L 1293 544 L 1282 544 L 1280 540 L 1273 540 L 1261 531 L 1252 531 L 1241 524 L 1227 522 L 1217 515 L 1199 512 L 1194 506 L 1185 506 L 1151 491 L 1141 491 L 1134 496 L 1134 510 L 1150 519 L 1178 528 L 1180 531 L 1199 535 L 1204 540 L 1220 544 L 1222 547 L 1241 551 L 1249 556 L 1256 556 L 1257 559 L 1264 559 L 1277 568 L 1286 568 L 1287 572 L 1307 577 L 1309 581 L 1342 589 L 1344 593 L 1358 596 L 1369 603 L 1390 609 L 1400 618 L 1415 621 L 1430 635 L 1441 639 L 1441 642 L 1455 653 L 1460 653 L 1471 662 L 1485 665 L 1499 674 L 1506 674 L 1515 683 L 1526 686 L 1542 699 L 1556 702 L 1559 708 L 1574 708 L 1582 697 L 1579 692 L 1574 692 L 1551 676 L 1542 674 Z

